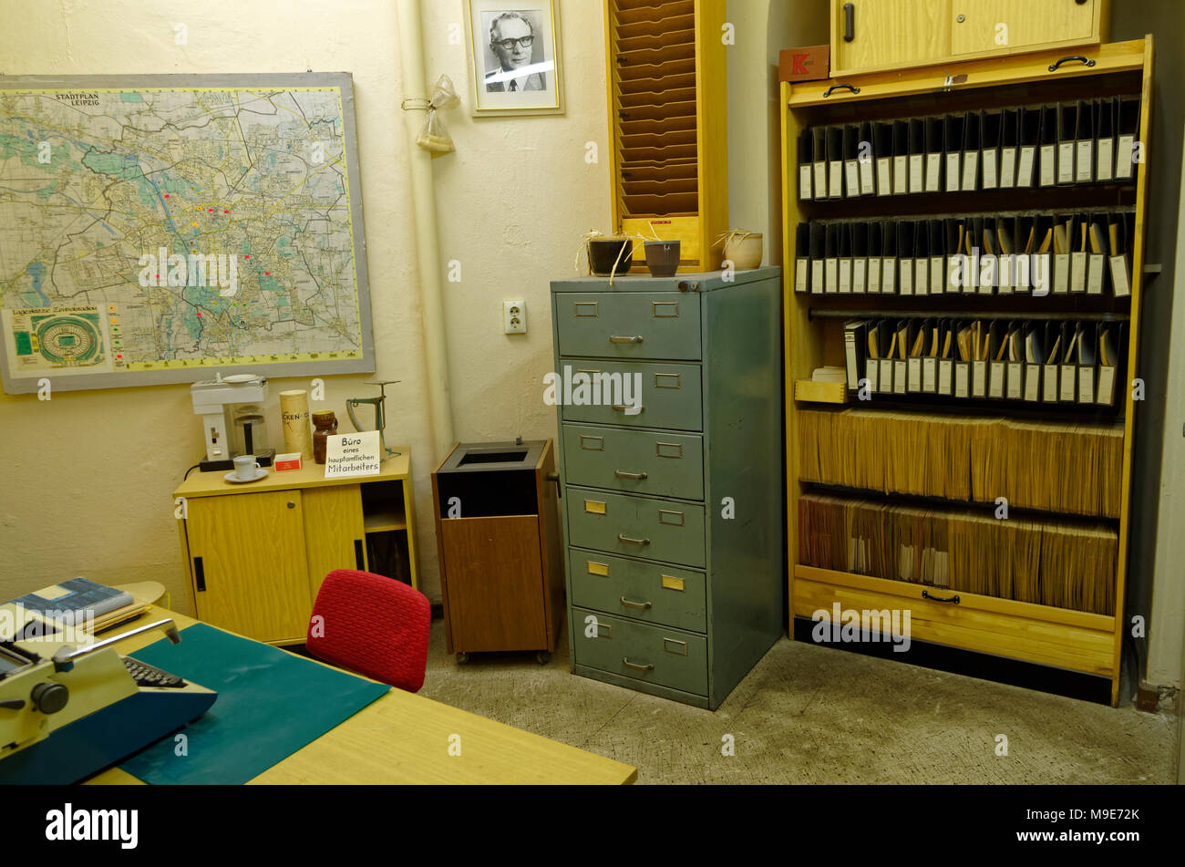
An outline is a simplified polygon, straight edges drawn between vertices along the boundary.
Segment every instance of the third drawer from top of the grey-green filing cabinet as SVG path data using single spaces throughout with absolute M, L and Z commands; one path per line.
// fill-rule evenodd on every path
M 630 494 L 704 499 L 704 438 L 565 424 L 569 484 Z

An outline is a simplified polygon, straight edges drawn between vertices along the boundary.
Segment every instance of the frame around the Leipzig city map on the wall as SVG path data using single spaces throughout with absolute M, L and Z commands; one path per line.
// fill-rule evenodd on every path
M 39 390 L 39 380 L 51 379 L 55 391 L 95 391 L 139 388 L 154 385 L 192 385 L 236 373 L 257 373 L 268 379 L 299 377 L 335 377 L 351 373 L 374 373 L 374 336 L 371 325 L 370 276 L 366 265 L 366 232 L 363 223 L 361 174 L 358 167 L 358 130 L 354 122 L 354 88 L 351 72 L 248 72 L 248 73 L 161 73 L 161 75 L 100 75 L 100 76 L 2 76 L 0 91 L 26 89 L 136 89 L 136 88 L 339 88 L 341 92 L 342 143 L 346 158 L 350 221 L 352 229 L 354 283 L 358 291 L 358 326 L 361 333 L 360 359 L 277 361 L 250 365 L 209 365 L 180 370 L 128 371 L 96 373 L 83 377 L 53 375 L 44 371 L 36 375 L 14 377 L 8 370 L 7 354 L 0 347 L 0 381 L 6 394 L 31 394 Z M 49 308 L 47 308 L 49 309 Z M 4 335 L 0 335 L 2 338 Z

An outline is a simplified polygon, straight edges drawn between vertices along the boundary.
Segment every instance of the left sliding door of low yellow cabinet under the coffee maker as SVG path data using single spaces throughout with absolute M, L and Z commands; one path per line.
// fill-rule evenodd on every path
M 300 492 L 193 497 L 186 533 L 199 619 L 256 641 L 307 635 Z

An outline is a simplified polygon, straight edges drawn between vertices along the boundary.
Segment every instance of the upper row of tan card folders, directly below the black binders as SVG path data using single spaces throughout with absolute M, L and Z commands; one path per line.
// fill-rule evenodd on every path
M 1123 426 L 848 409 L 798 413 L 799 480 L 1116 519 Z

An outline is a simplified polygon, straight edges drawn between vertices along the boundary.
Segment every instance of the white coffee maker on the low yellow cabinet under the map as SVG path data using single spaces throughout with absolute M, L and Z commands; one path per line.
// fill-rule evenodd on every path
M 193 411 L 201 416 L 206 442 L 203 473 L 235 469 L 235 458 L 254 455 L 261 467 L 270 467 L 276 450 L 268 447 L 263 403 L 268 399 L 268 380 L 254 373 L 233 377 L 214 374 L 207 383 L 190 386 Z

